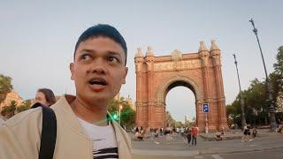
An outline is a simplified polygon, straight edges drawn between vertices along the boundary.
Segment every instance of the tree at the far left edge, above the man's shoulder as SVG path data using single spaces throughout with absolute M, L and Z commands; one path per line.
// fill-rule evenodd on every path
M 7 94 L 11 92 L 11 77 L 0 74 L 0 103 L 4 102 Z

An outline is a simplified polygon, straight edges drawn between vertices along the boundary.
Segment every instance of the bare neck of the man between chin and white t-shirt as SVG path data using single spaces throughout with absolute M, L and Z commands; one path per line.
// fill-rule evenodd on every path
M 107 106 L 96 106 L 83 102 L 78 97 L 70 103 L 71 108 L 77 117 L 93 125 L 108 125 Z

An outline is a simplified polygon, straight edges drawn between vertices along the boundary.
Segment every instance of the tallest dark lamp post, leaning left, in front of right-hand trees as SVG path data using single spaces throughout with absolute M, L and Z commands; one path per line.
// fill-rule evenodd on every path
M 260 46 L 260 43 L 259 43 L 259 40 L 258 40 L 257 29 L 255 27 L 255 22 L 254 22 L 253 19 L 250 19 L 249 22 L 254 27 L 253 32 L 256 34 L 256 40 L 257 40 L 258 47 L 259 47 L 259 50 L 260 50 L 260 54 L 262 56 L 263 63 L 264 63 L 264 55 L 263 55 L 262 47 Z M 275 107 L 274 107 L 274 102 L 273 102 L 273 98 L 272 98 L 272 84 L 270 82 L 270 79 L 268 79 L 265 63 L 264 63 L 264 72 L 265 72 L 265 87 L 266 87 L 266 93 L 267 93 L 267 96 L 268 96 L 268 104 L 269 104 L 271 130 L 275 131 L 275 129 L 276 129 L 276 122 L 275 122 Z

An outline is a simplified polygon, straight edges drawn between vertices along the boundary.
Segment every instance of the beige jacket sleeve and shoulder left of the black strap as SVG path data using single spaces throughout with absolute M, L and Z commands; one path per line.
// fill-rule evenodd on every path
M 0 127 L 0 159 L 37 159 L 41 141 L 42 111 L 26 110 Z

